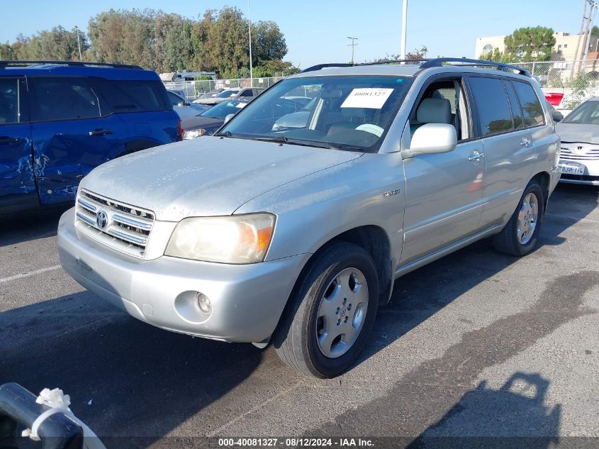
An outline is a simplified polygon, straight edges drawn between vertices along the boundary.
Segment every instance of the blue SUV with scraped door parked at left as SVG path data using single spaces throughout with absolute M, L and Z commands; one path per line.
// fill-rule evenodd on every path
M 94 167 L 181 133 L 155 72 L 0 61 L 0 212 L 73 201 Z

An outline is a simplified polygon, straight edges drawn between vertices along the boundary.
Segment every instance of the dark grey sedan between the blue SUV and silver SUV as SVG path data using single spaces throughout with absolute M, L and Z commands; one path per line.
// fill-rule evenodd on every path
M 188 140 L 202 135 L 212 135 L 218 128 L 223 126 L 228 118 L 241 111 L 250 101 L 252 100 L 244 98 L 223 101 L 197 116 L 183 118 L 181 120 L 183 139 Z

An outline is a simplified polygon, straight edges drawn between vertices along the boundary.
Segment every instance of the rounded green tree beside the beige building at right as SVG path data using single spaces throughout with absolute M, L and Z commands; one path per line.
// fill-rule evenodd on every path
M 535 26 L 518 28 L 505 36 L 505 53 L 518 61 L 548 61 L 555 45 L 552 28 Z

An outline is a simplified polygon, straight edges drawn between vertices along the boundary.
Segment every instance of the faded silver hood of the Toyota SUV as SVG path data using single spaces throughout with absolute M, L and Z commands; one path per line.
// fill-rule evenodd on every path
M 264 192 L 361 155 L 204 136 L 118 157 L 92 170 L 81 187 L 179 221 L 233 214 Z

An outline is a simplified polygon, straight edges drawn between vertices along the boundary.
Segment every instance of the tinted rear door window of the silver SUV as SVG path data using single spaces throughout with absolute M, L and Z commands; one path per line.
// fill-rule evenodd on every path
M 510 103 L 501 80 L 471 77 L 470 85 L 481 122 L 481 133 L 487 135 L 513 129 Z

